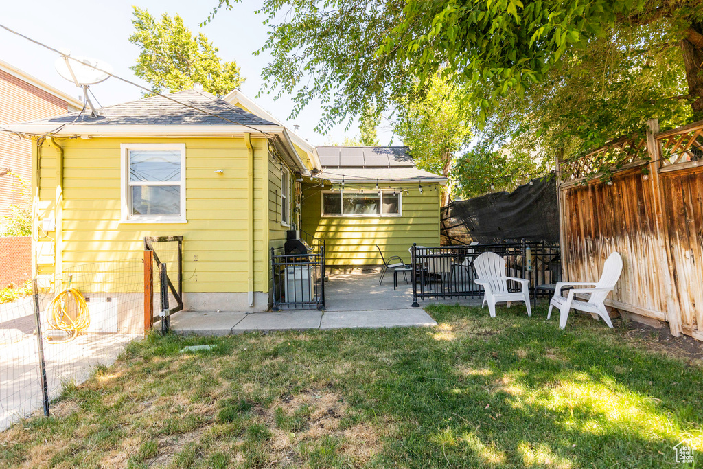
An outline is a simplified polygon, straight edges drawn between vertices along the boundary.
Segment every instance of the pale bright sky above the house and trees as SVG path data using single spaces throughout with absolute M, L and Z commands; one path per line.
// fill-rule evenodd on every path
M 246 77 L 241 89 L 250 98 L 261 89 L 261 71 L 270 61 L 268 54 L 253 55 L 267 37 L 266 26 L 262 25 L 265 18 L 254 14 L 260 6 L 258 1 L 243 0 L 240 4 L 233 4 L 231 11 L 221 10 L 212 23 L 202 28 L 199 24 L 207 18 L 217 0 L 34 0 L 29 8 L 25 1 L 4 0 L 0 23 L 56 49 L 70 49 L 72 55 L 104 60 L 112 65 L 115 75 L 145 86 L 147 84 L 129 70 L 139 54 L 138 47 L 128 41 L 133 32 L 132 5 L 147 8 L 155 17 L 162 13 L 181 15 L 194 35 L 202 32 L 217 46 L 223 60 L 236 60 Z M 0 60 L 71 96 L 79 96 L 82 94 L 80 89 L 60 77 L 54 69 L 56 58 L 56 53 L 0 29 Z M 136 86 L 114 78 L 92 85 L 91 91 L 103 106 L 141 98 L 141 90 Z M 298 124 L 298 133 L 314 145 L 342 142 L 344 136 L 359 134 L 356 123 L 348 130 L 340 124 L 328 134 L 316 133 L 319 103 L 308 105 L 295 119 L 289 120 L 293 105 L 288 96 L 274 101 L 273 96 L 263 95 L 255 101 L 289 127 Z M 383 124 L 378 133 L 382 145 L 392 142 L 392 131 Z M 394 143 L 399 144 L 397 137 Z

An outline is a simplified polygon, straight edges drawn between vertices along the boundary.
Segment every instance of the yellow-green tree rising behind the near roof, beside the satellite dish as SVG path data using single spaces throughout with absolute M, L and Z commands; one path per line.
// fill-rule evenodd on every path
M 224 96 L 244 82 L 236 62 L 223 62 L 205 34 L 193 37 L 179 15 L 164 13 L 157 21 L 148 10 L 133 8 L 135 31 L 129 41 L 140 52 L 131 70 L 154 91 L 181 91 L 200 83 L 205 91 Z

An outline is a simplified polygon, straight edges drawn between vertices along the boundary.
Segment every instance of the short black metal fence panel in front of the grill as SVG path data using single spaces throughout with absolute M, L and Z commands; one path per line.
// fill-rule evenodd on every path
M 325 309 L 325 245 L 308 255 L 286 255 L 271 248 L 273 311 Z

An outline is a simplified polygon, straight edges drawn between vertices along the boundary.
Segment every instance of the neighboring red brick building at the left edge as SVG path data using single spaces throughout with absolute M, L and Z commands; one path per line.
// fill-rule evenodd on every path
M 83 104 L 39 79 L 0 60 L 0 126 L 81 110 Z M 0 217 L 22 203 L 19 174 L 32 185 L 32 142 L 0 131 Z M 27 199 L 25 203 L 28 203 Z

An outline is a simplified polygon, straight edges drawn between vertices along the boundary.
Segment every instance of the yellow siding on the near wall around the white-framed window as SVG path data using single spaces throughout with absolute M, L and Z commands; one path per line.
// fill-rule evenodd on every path
M 145 236 L 182 235 L 184 291 L 247 291 L 249 153 L 244 139 L 94 138 L 58 143 L 64 148 L 64 268 L 134 259 L 142 255 Z M 120 223 L 121 143 L 186 145 L 187 224 Z M 269 150 L 263 139 L 252 139 L 252 147 L 254 291 L 268 292 L 269 227 L 264 203 L 268 174 L 264 164 Z M 224 174 L 216 174 L 216 169 L 223 169 Z M 53 210 L 55 193 L 56 152 L 44 143 L 39 161 L 39 218 Z M 40 264 L 39 269 L 39 274 L 50 274 L 53 265 Z

